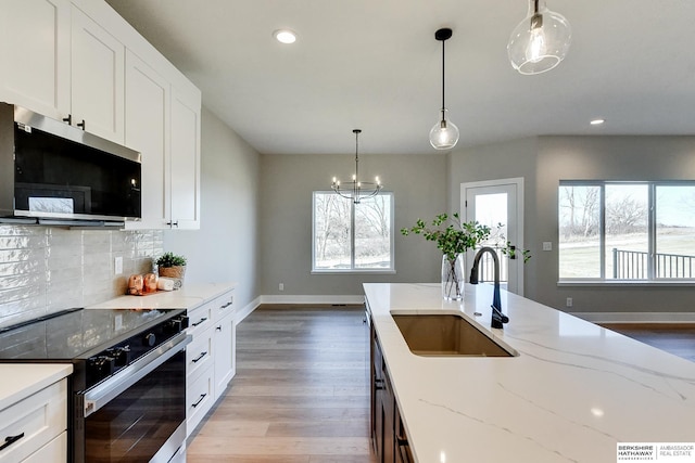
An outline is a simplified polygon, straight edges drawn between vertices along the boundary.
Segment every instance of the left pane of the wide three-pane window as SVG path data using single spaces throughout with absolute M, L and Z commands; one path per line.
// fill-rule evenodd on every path
M 601 278 L 601 187 L 559 188 L 559 278 Z

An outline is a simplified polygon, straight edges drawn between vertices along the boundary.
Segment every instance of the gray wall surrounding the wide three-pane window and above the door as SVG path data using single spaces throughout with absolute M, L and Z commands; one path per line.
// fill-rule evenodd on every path
M 457 150 L 450 156 L 450 204 L 459 203 L 462 182 L 525 178 L 525 294 L 572 312 L 687 312 L 695 310 L 687 286 L 558 286 L 557 189 L 559 180 L 692 180 L 695 137 L 539 137 Z M 553 252 L 542 252 L 544 241 Z M 695 245 L 695 239 L 694 239 Z

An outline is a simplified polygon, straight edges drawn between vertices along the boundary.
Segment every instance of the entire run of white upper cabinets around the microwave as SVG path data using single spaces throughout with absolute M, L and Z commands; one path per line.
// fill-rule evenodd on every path
M 103 0 L 0 0 L 0 101 L 142 153 L 142 221 L 200 228 L 201 93 Z

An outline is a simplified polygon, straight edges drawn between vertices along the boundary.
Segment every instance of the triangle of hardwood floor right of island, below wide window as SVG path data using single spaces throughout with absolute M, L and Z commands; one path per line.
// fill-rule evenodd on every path
M 607 323 L 602 326 L 695 362 L 693 323 Z

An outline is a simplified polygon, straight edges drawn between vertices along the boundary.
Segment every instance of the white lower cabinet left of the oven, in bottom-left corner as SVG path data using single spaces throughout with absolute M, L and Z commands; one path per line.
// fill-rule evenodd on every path
M 0 462 L 65 462 L 66 428 L 67 380 L 61 380 L 0 411 L 0 443 L 7 445 Z

